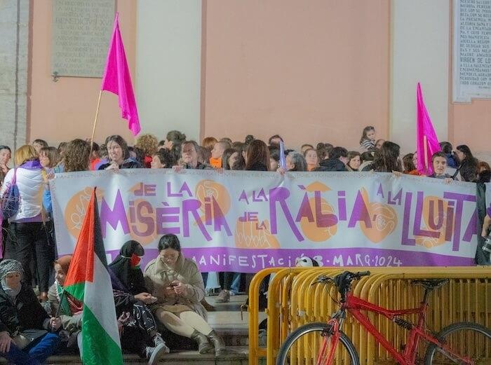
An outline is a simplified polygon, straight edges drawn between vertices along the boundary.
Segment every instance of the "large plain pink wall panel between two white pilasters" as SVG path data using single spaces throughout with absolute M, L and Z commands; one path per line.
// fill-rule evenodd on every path
M 388 137 L 388 0 L 203 6 L 202 137 L 353 148 L 365 125 Z

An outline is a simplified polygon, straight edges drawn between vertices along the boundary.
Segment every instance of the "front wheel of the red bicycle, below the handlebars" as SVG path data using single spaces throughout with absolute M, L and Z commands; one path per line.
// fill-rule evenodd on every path
M 358 353 L 351 340 L 342 332 L 334 359 L 330 364 L 359 365 Z M 330 365 L 332 326 L 323 322 L 300 326 L 281 345 L 276 365 Z

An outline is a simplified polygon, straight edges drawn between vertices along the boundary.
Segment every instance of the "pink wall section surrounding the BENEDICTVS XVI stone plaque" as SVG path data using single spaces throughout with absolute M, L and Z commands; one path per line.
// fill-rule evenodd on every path
M 27 142 L 36 138 L 58 144 L 74 138 L 90 138 L 100 90 L 101 78 L 51 77 L 52 1 L 32 1 L 31 80 L 28 97 Z M 136 4 L 133 0 L 117 0 L 120 29 L 128 64 L 134 79 Z M 102 76 L 102 75 L 101 75 Z M 133 136 L 121 119 L 117 96 L 104 92 L 100 104 L 95 142 L 108 135 L 120 134 L 128 142 Z

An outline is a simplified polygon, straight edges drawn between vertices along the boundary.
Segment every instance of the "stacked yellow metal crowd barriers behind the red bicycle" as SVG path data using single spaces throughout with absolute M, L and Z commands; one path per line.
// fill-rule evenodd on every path
M 336 275 L 343 270 L 360 271 L 368 268 L 269 268 L 258 273 L 250 284 L 249 303 L 249 364 L 258 364 L 267 357 L 273 365 L 281 343 L 292 330 L 310 322 L 326 322 L 337 304 L 336 288 L 331 285 L 312 285 L 319 275 Z M 389 309 L 417 308 L 423 290 L 410 284 L 414 279 L 445 277 L 450 282 L 431 294 L 426 315 L 428 328 L 440 331 L 455 322 L 491 324 L 491 268 L 369 268 L 370 277 L 354 284 L 354 294 Z M 402 273 L 403 271 L 403 273 Z M 267 348 L 258 342 L 257 299 L 260 282 L 267 275 L 275 276 L 269 284 L 267 313 Z M 330 298 L 331 297 L 331 298 Z M 400 349 L 406 330 L 381 315 L 368 313 L 370 321 Z M 413 322 L 415 317 L 410 318 Z M 376 343 L 351 316 L 344 322 L 343 331 L 351 338 L 361 364 L 380 364 L 392 361 L 388 352 Z M 420 346 L 423 353 L 425 345 Z M 491 349 L 490 349 L 491 351 Z M 490 354 L 491 355 L 491 354 Z M 393 362 L 393 361 L 392 361 Z

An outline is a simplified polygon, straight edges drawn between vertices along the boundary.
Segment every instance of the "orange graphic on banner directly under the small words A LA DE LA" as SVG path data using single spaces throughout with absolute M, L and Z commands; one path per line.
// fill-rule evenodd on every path
M 237 219 L 235 246 L 241 249 L 279 249 L 280 244 L 269 230 L 269 221 L 240 221 Z

